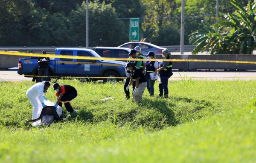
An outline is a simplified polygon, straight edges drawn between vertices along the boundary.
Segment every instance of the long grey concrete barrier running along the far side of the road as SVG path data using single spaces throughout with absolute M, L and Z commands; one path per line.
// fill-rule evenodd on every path
M 0 55 L 0 69 L 17 67 L 20 58 L 30 56 Z M 172 55 L 172 59 L 207 59 L 228 61 L 252 61 L 256 62 L 256 55 Z M 157 59 L 162 59 L 157 55 Z M 172 69 L 177 70 L 256 70 L 256 64 L 236 64 L 220 62 L 173 62 Z

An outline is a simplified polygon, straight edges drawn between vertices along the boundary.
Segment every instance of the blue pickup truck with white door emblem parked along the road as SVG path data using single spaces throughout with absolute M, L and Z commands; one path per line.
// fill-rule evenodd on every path
M 101 58 L 95 51 L 86 48 L 57 48 L 55 55 L 64 56 L 90 56 Z M 123 79 L 113 77 L 126 77 L 126 62 L 110 61 L 110 60 L 87 60 L 87 59 L 66 59 L 55 58 L 50 60 L 49 76 L 55 78 L 60 77 L 112 77 L 103 78 L 104 82 L 114 82 Z M 19 59 L 18 74 L 25 77 L 38 76 L 37 58 L 31 57 Z M 101 79 L 90 79 L 90 81 Z M 37 81 L 37 77 L 33 77 L 32 81 Z

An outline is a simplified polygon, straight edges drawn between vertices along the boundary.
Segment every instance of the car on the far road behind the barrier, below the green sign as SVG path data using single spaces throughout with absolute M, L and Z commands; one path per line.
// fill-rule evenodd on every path
M 165 49 L 148 42 L 126 42 L 118 47 L 134 49 L 136 46 L 141 48 L 141 53 L 144 55 L 147 55 L 149 51 L 153 51 L 156 55 L 159 55 Z

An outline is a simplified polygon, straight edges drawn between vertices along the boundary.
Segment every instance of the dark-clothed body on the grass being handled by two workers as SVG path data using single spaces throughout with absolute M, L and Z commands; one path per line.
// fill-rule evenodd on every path
M 38 121 L 40 119 L 41 119 L 42 124 L 44 126 L 52 124 L 52 122 L 54 120 L 56 120 L 56 121 L 67 120 L 65 118 L 60 118 L 58 116 L 58 113 L 57 113 L 55 107 L 53 107 L 53 106 L 46 106 L 46 107 L 43 108 L 43 110 L 42 110 L 42 112 L 41 112 L 41 114 L 40 114 L 40 116 L 38 118 L 32 119 L 32 120 L 27 120 L 25 123 L 28 124 L 29 122 L 36 122 L 36 121 Z

